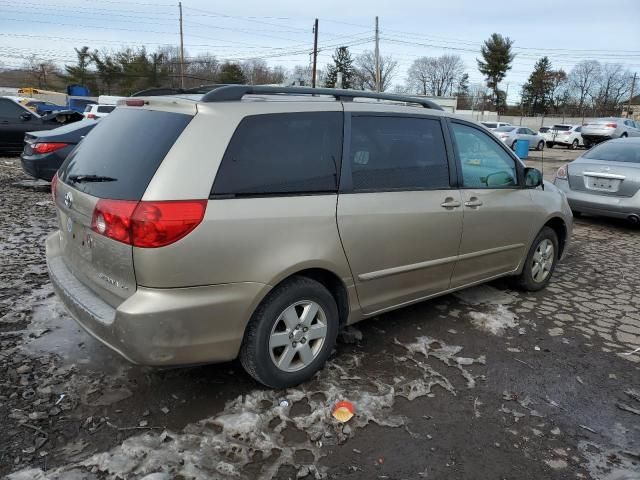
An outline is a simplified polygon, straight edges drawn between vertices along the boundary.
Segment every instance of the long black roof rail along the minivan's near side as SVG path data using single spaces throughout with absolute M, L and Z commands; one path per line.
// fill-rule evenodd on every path
M 389 100 L 392 102 L 415 103 L 425 108 L 442 110 L 442 107 L 426 98 L 411 97 L 409 95 L 395 95 L 390 93 L 366 92 L 361 90 L 340 90 L 336 88 L 310 87 L 271 87 L 262 85 L 228 85 L 219 87 L 206 93 L 203 102 L 230 102 L 241 100 L 245 95 L 327 95 L 339 101 L 352 101 L 354 98 L 372 98 L 375 100 Z

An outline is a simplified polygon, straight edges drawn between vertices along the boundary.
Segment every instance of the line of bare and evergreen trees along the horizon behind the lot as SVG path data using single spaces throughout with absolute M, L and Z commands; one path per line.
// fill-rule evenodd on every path
M 398 62 L 392 56 L 380 57 L 380 90 L 425 96 L 456 96 L 458 109 L 496 110 L 502 113 L 540 115 L 610 115 L 619 113 L 631 93 L 632 74 L 618 63 L 585 60 L 568 73 L 554 68 L 548 57 L 540 58 L 522 86 L 519 105 L 507 107 L 502 83 L 516 53 L 514 42 L 492 34 L 481 46 L 477 68 L 482 84 L 470 85 L 469 74 L 459 55 L 416 58 L 403 84 L 395 84 Z M 75 49 L 75 62 L 60 69 L 50 60 L 35 56 L 25 61 L 28 80 L 40 88 L 60 88 L 68 83 L 87 85 L 94 94 L 130 95 L 153 87 L 179 87 L 180 50 L 165 46 L 149 52 L 145 47 L 120 50 Z M 349 47 L 338 47 L 332 61 L 318 69 L 319 86 L 335 87 L 341 73 L 342 88 L 374 90 L 376 62 L 372 51 L 352 56 Z M 311 67 L 297 65 L 290 70 L 269 66 L 263 59 L 241 62 L 220 61 L 215 55 L 185 55 L 186 88 L 215 83 L 311 84 Z

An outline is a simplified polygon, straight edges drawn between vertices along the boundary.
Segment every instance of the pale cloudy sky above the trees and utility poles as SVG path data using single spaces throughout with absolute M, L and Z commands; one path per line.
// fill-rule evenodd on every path
M 640 72 L 640 0 L 184 0 L 183 14 L 188 55 L 260 57 L 286 68 L 309 63 L 316 17 L 324 67 L 337 45 L 350 46 L 354 55 L 373 50 L 378 15 L 380 52 L 399 62 L 398 84 L 415 58 L 444 53 L 459 54 L 471 81 L 482 81 L 475 58 L 482 41 L 498 32 L 515 41 L 517 56 L 501 86 L 508 85 L 510 101 L 543 55 L 567 72 L 584 59 Z M 177 2 L 0 0 L 0 66 L 20 66 L 31 54 L 73 61 L 73 47 L 82 45 L 153 50 L 178 44 L 178 31 Z

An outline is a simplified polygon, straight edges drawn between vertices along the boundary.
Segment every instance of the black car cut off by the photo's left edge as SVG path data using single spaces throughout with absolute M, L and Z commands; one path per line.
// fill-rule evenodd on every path
M 41 117 L 11 98 L 0 97 L 0 153 L 20 153 L 26 132 L 50 130 L 83 118 L 69 110 Z

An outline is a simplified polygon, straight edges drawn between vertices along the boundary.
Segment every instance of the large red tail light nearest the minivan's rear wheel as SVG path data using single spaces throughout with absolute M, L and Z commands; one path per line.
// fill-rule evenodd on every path
M 206 200 L 103 199 L 93 211 L 91 229 L 134 247 L 164 247 L 193 231 L 202 222 L 206 208 Z

